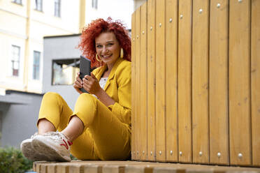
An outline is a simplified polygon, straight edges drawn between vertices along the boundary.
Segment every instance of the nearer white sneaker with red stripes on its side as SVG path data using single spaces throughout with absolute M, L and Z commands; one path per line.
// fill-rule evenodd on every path
M 31 142 L 36 151 L 48 156 L 47 161 L 71 161 L 70 149 L 72 142 L 60 132 L 48 132 L 36 135 Z

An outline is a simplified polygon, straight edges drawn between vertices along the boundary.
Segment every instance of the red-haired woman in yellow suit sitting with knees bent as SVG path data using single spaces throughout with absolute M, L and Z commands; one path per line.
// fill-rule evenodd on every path
M 82 31 L 82 55 L 98 67 L 73 87 L 74 112 L 58 93 L 43 96 L 38 133 L 21 143 L 30 160 L 124 160 L 131 153 L 131 40 L 120 22 L 98 19 Z M 84 88 L 89 93 L 82 93 Z

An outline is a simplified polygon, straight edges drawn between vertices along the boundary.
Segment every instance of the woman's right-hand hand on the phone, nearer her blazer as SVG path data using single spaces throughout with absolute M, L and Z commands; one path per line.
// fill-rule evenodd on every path
M 103 90 L 99 86 L 99 80 L 96 79 L 95 75 L 91 73 L 91 75 L 85 75 L 83 78 L 83 88 L 96 96 L 99 95 L 99 93 Z

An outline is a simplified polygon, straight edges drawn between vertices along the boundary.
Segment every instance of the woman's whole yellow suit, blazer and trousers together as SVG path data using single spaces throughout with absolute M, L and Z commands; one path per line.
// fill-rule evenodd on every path
M 107 66 L 93 70 L 100 80 Z M 115 100 L 106 107 L 89 93 L 82 93 L 74 112 L 58 93 L 43 96 L 38 119 L 48 119 L 55 128 L 66 128 L 71 116 L 78 116 L 85 131 L 73 141 L 71 153 L 81 160 L 124 160 L 131 153 L 131 62 L 117 59 L 104 87 Z

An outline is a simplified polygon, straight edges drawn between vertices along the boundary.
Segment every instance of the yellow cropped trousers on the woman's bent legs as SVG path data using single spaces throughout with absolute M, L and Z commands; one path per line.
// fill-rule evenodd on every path
M 45 93 L 38 119 L 48 119 L 62 131 L 74 115 L 84 123 L 85 130 L 73 141 L 73 156 L 80 160 L 125 160 L 130 157 L 131 129 L 101 101 L 82 93 L 73 112 L 58 93 Z

